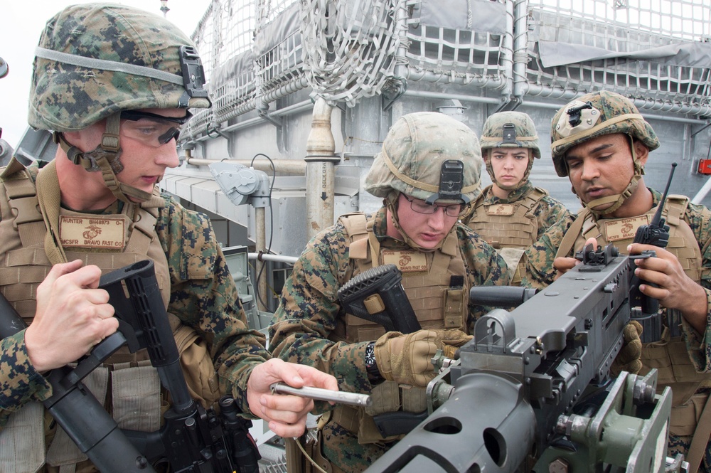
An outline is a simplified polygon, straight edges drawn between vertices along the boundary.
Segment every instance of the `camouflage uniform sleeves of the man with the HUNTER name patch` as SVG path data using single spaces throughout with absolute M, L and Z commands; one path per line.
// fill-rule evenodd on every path
M 37 167 L 35 163 L 29 168 L 32 176 L 36 176 Z M 247 403 L 247 380 L 252 368 L 271 358 L 264 348 L 264 336 L 247 328 L 237 287 L 208 217 L 183 208 L 168 194 L 163 198 L 165 206 L 159 211 L 156 236 L 169 262 L 171 302 L 167 310 L 208 341 L 220 376 L 220 389 L 232 393 L 242 412 L 253 418 Z M 121 206 L 124 203 L 117 201 L 103 213 L 117 213 Z M 52 394 L 50 384 L 28 358 L 24 334 L 23 330 L 0 341 L 2 426 L 15 410 L 33 400 L 46 400 Z M 45 468 L 43 471 L 53 471 Z

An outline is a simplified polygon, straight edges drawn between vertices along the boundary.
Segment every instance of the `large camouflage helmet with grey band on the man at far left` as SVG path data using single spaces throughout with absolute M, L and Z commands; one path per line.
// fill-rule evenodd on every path
M 69 132 L 122 110 L 209 107 L 206 94 L 187 93 L 181 46 L 193 43 L 173 23 L 147 11 L 99 3 L 68 6 L 47 22 L 40 38 L 29 124 Z

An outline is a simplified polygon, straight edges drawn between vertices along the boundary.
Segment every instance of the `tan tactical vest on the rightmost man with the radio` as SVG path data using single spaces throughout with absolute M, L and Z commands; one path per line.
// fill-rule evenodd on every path
M 669 225 L 669 243 L 666 249 L 678 258 L 690 279 L 700 282 L 702 255 L 693 230 L 685 220 L 688 203 L 689 199 L 686 196 L 669 196 L 665 201 L 662 215 Z M 627 246 L 634 241 L 637 228 L 651 222 L 655 211 L 656 207 L 643 216 L 604 218 L 596 222 L 592 213 L 587 208 L 583 208 L 565 233 L 556 257 L 568 256 L 573 248 L 582 248 L 588 238 L 597 238 L 597 243 L 601 246 L 612 243 L 621 254 L 626 254 Z M 577 236 L 573 239 L 567 238 L 568 235 Z M 711 375 L 696 372 L 682 337 L 670 336 L 668 327 L 665 327 L 660 341 L 643 346 L 641 361 L 643 368 L 640 374 L 648 373 L 651 368 L 657 369 L 659 393 L 665 386 L 672 388 L 675 407 L 687 403 L 699 388 L 711 387 Z M 674 434 L 677 434 L 674 432 L 675 425 L 682 427 L 680 422 L 675 420 L 675 415 L 681 414 L 680 410 L 672 410 L 670 432 Z M 695 427 L 695 425 L 683 427 L 684 430 L 688 430 L 688 427 Z

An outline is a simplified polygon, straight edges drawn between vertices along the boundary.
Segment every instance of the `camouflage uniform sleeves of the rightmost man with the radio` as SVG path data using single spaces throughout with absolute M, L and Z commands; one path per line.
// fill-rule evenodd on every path
M 653 195 L 653 207 L 656 207 L 662 197 L 661 193 L 653 189 L 650 189 L 650 191 Z M 575 216 L 568 216 L 560 220 L 528 248 L 521 262 L 523 267 L 521 286 L 543 289 L 553 282 L 556 274 L 553 260 L 563 235 L 565 235 L 574 220 Z M 686 220 L 688 220 L 696 236 L 696 242 L 699 247 L 705 248 L 701 265 L 701 285 L 706 292 L 707 305 L 711 307 L 711 248 L 705 246 L 711 240 L 711 211 L 705 206 L 690 203 L 686 211 Z M 576 250 L 579 250 L 579 248 L 573 248 L 567 256 L 574 257 Z M 707 315 L 705 333 L 698 334 L 685 320 L 682 322 L 682 327 L 688 354 L 696 370 L 699 372 L 711 372 L 711 312 Z M 707 391 L 709 391 L 708 388 L 705 389 L 705 392 Z M 690 437 L 670 435 L 668 445 L 670 453 L 685 453 L 690 445 Z M 711 472 L 711 442 L 707 446 L 705 458 L 699 471 Z

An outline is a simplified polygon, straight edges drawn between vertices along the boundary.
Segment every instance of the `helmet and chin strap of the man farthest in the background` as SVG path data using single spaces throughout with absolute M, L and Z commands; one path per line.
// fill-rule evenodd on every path
M 491 181 L 506 191 L 525 186 L 528 182 L 533 159 L 540 159 L 540 143 L 538 133 L 535 131 L 533 119 L 523 112 L 498 112 L 486 119 L 481 130 L 481 155 L 484 159 L 486 171 L 491 176 Z M 496 181 L 491 165 L 491 149 L 495 148 L 525 148 L 530 149 L 528 155 L 528 168 L 523 179 L 515 186 L 503 185 Z

